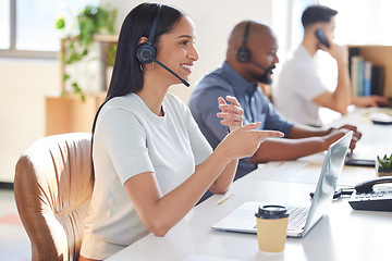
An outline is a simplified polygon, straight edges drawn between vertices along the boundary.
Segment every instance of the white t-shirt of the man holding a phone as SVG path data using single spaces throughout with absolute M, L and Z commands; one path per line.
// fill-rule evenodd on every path
M 319 105 L 313 99 L 328 91 L 317 73 L 315 59 L 299 46 L 280 72 L 273 88 L 273 104 L 285 117 L 320 126 Z

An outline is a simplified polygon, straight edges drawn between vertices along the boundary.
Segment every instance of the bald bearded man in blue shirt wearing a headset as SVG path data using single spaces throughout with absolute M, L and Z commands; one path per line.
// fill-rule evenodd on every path
M 206 75 L 189 98 L 192 114 L 212 148 L 228 134 L 228 128 L 217 117 L 218 97 L 233 96 L 238 100 L 244 124 L 261 122 L 260 129 L 285 134 L 283 139 L 266 140 L 252 158 L 240 160 L 235 178 L 255 170 L 257 163 L 294 160 L 327 150 L 350 129 L 354 130 L 351 149 L 360 138 L 355 126 L 315 128 L 290 122 L 275 111 L 257 84 L 271 83 L 272 71 L 279 62 L 277 51 L 277 38 L 269 26 L 254 21 L 237 24 L 229 38 L 225 62 Z

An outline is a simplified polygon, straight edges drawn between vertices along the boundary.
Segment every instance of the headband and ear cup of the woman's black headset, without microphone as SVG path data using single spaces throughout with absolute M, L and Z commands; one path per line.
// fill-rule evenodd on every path
M 157 49 L 155 48 L 155 46 L 152 46 L 152 41 L 157 30 L 160 11 L 161 11 L 161 7 L 158 5 L 157 14 L 154 18 L 150 35 L 148 36 L 148 40 L 147 42 L 140 44 L 136 49 L 136 58 L 143 64 L 151 63 L 154 62 L 154 59 L 157 58 Z

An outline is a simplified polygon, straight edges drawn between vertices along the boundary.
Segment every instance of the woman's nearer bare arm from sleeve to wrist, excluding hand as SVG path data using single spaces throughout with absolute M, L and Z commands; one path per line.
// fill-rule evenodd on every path
M 125 190 L 145 226 L 164 236 L 198 202 L 229 160 L 213 152 L 195 173 L 162 197 L 152 173 L 140 173 L 125 182 Z

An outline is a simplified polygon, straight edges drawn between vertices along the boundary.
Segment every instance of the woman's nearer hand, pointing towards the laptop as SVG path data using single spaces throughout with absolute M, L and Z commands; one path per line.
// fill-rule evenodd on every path
M 256 130 L 260 124 L 249 123 L 237 127 L 218 145 L 216 151 L 221 151 L 229 160 L 252 157 L 266 138 L 284 136 L 277 130 Z

